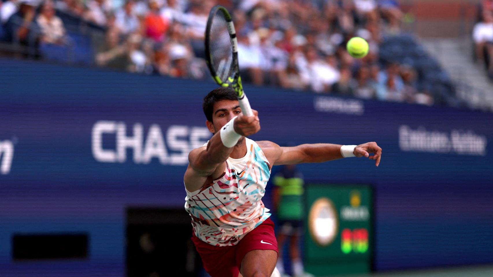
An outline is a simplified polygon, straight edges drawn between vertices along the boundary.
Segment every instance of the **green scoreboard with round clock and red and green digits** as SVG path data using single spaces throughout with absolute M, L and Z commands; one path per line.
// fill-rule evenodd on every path
M 305 268 L 316 276 L 368 273 L 372 261 L 370 186 L 307 185 Z

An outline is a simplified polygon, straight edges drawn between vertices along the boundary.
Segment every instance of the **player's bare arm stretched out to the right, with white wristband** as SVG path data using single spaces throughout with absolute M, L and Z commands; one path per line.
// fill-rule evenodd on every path
M 364 156 L 375 160 L 375 165 L 378 166 L 382 156 L 382 148 L 376 142 L 368 142 L 351 147 L 327 143 L 280 147 L 270 141 L 261 141 L 258 144 L 267 155 L 267 159 L 274 165 L 325 162 L 349 156 Z M 370 155 L 372 153 L 374 155 Z

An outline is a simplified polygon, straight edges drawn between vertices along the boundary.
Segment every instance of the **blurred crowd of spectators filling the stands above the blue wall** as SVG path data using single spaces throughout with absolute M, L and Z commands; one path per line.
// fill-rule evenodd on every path
M 385 35 L 397 35 L 403 13 L 395 0 L 6 0 L 0 6 L 4 40 L 70 43 L 55 10 L 105 30 L 95 62 L 181 78 L 210 78 L 204 31 L 211 7 L 233 15 L 244 82 L 360 98 L 434 102 L 415 86 L 412 65 L 379 59 Z M 35 6 L 39 6 L 36 15 Z M 34 34 L 34 35 L 33 35 Z M 38 35 L 36 35 L 38 34 Z M 369 54 L 353 59 L 352 36 L 365 38 Z M 37 38 L 36 38 L 37 37 Z

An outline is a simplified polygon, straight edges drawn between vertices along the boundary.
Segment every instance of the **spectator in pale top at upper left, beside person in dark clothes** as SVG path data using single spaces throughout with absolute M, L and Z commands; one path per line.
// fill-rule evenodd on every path
M 65 44 L 65 27 L 62 20 L 55 16 L 53 3 L 45 1 L 38 15 L 37 24 L 41 28 L 41 42 L 48 44 Z

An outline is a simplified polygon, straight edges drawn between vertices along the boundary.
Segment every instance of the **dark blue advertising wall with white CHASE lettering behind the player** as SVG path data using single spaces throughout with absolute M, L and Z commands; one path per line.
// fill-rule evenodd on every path
M 124 276 L 125 209 L 184 205 L 188 152 L 211 137 L 202 98 L 214 88 L 1 59 L 0 275 Z M 306 183 L 374 187 L 376 270 L 493 262 L 493 114 L 245 90 L 262 127 L 254 140 L 382 147 L 379 167 L 299 166 Z M 90 258 L 13 261 L 13 234 L 43 232 L 88 233 Z

